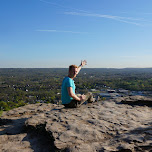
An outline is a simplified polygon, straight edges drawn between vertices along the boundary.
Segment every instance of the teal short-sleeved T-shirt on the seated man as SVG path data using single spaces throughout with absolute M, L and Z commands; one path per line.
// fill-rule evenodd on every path
M 69 77 L 65 77 L 63 79 L 62 82 L 62 96 L 61 96 L 61 100 L 62 100 L 62 104 L 68 104 L 71 102 L 71 100 L 73 100 L 72 97 L 69 96 L 68 94 L 68 87 L 72 87 L 72 91 L 75 94 L 75 84 L 74 84 L 74 80 L 72 80 Z

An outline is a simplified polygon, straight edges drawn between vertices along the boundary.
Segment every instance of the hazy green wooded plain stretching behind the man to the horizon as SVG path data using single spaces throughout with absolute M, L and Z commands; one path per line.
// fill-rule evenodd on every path
M 61 84 L 67 68 L 0 69 L 0 110 L 61 99 Z M 152 91 L 152 69 L 82 69 L 75 79 L 78 93 L 89 89 Z

